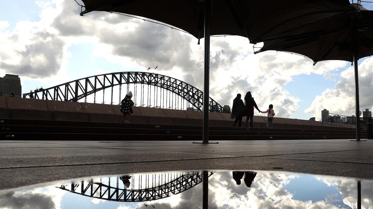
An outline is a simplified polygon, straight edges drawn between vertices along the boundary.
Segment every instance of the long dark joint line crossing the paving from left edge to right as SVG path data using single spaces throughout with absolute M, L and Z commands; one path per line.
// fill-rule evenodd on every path
M 305 153 L 278 154 L 278 155 L 212 157 L 212 158 L 195 158 L 195 159 L 176 159 L 176 160 L 154 160 L 154 161 L 137 161 L 137 162 L 85 163 L 85 164 L 69 164 L 69 165 L 35 165 L 35 166 L 21 166 L 21 167 L 0 167 L 0 170 L 1 169 L 12 169 L 12 168 L 65 167 L 65 166 L 82 166 L 82 165 L 109 165 L 109 164 L 128 164 L 128 163 L 157 163 L 157 162 L 186 161 L 186 160 L 214 160 L 214 159 L 227 159 L 227 158 L 270 157 L 270 156 L 280 156 L 280 155 L 316 154 L 316 153 L 344 152 L 344 151 L 358 151 L 358 150 L 369 150 L 369 149 L 351 149 L 351 150 L 325 151 L 325 152 L 305 152 Z M 280 159 L 280 158 L 274 158 L 274 159 Z M 289 159 L 284 159 L 284 160 L 289 160 Z M 329 161 L 325 161 L 325 162 L 329 162 Z M 330 161 L 330 162 L 332 162 L 332 161 Z M 340 163 L 340 162 L 337 162 L 337 163 Z M 359 163 L 357 163 L 357 164 L 359 164 Z M 366 164 L 366 163 L 360 163 L 360 164 Z

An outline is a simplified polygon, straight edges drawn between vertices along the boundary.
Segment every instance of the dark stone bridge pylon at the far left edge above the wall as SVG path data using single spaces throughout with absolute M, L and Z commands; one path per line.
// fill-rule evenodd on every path
M 21 79 L 18 75 L 5 74 L 0 77 L 0 96 L 22 97 Z

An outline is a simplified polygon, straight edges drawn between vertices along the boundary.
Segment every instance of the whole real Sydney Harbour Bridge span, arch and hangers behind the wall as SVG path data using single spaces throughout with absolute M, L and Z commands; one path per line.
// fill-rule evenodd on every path
M 119 88 L 118 88 L 119 87 Z M 109 90 L 109 93 L 108 93 Z M 184 81 L 166 75 L 147 72 L 119 72 L 94 75 L 63 83 L 48 89 L 36 89 L 23 98 L 87 102 L 93 97 L 111 105 L 120 104 L 122 97 L 132 91 L 135 106 L 181 110 L 203 110 L 203 91 Z M 106 93 L 106 94 L 105 94 Z M 100 97 L 100 98 L 98 98 Z M 118 101 L 116 103 L 115 101 Z M 210 97 L 210 112 L 229 113 Z

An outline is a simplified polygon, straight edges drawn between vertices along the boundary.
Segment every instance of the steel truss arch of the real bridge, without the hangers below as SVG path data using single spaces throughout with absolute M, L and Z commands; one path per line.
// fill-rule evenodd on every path
M 191 103 L 197 110 L 202 111 L 203 92 L 184 81 L 166 75 L 146 72 L 118 72 L 81 78 L 48 89 L 37 89 L 23 94 L 23 98 L 73 101 L 87 97 L 97 91 L 112 88 L 122 84 L 147 84 L 169 90 Z M 210 97 L 210 112 L 228 113 L 219 103 Z

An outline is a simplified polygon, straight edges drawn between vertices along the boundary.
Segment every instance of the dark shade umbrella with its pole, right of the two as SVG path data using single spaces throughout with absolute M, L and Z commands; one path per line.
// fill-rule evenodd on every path
M 330 5 L 328 1 L 323 3 Z M 333 5 L 333 4 L 332 4 Z M 284 7 L 280 12 L 268 12 L 263 19 L 254 21 L 249 36 L 253 43 L 263 42 L 256 51 L 286 51 L 311 58 L 316 64 L 323 60 L 345 60 L 354 63 L 356 89 L 356 140 L 360 141 L 359 118 L 359 58 L 373 55 L 373 11 L 339 0 L 333 7 L 318 10 L 320 4 L 310 3 L 294 8 Z M 321 11 L 321 12 L 320 12 Z M 288 18 L 275 17 L 283 13 Z M 263 28 L 272 19 L 270 27 Z

